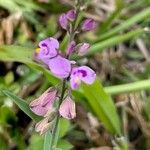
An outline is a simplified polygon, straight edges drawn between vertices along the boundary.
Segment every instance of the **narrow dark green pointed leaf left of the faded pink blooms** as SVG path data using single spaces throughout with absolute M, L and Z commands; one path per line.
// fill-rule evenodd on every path
M 12 92 L 9 92 L 7 90 L 2 91 L 6 96 L 8 96 L 10 99 L 12 99 L 17 105 L 18 107 L 25 113 L 27 114 L 31 119 L 35 120 L 35 121 L 40 121 L 42 119 L 41 116 L 38 116 L 36 114 L 34 114 L 30 108 L 29 105 L 21 98 L 17 97 L 16 95 L 14 95 Z

